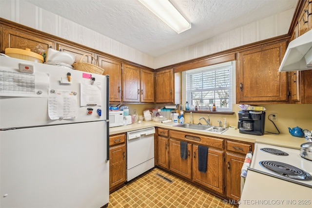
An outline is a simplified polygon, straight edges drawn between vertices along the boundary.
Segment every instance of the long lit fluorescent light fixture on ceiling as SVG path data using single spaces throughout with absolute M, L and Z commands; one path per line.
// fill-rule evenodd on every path
M 188 22 L 169 0 L 138 0 L 151 10 L 159 19 L 169 25 L 178 34 L 191 28 Z

